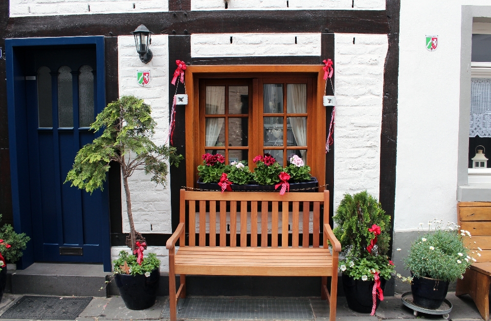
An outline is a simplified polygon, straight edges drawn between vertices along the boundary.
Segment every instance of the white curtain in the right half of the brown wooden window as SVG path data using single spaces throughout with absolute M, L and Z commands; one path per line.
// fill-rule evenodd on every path
M 288 113 L 307 113 L 307 86 L 304 83 L 289 83 L 286 87 L 286 106 Z M 305 117 L 288 117 L 292 125 L 297 145 L 307 145 L 307 124 Z M 300 151 L 305 161 L 307 151 Z

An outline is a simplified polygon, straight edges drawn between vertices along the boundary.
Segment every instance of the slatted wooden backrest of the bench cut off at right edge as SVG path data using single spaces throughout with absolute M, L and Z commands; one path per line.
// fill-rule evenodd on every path
M 491 202 L 459 202 L 457 218 L 460 229 L 471 232 L 464 244 L 482 249 L 480 257 L 473 255 L 477 262 L 491 262 Z

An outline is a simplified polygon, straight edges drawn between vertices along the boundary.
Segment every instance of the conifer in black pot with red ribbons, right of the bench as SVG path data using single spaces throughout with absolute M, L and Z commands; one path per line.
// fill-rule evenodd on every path
M 352 196 L 346 194 L 333 220 L 337 225 L 333 232 L 344 256 L 340 270 L 348 307 L 373 315 L 384 299 L 386 280 L 394 272 L 394 264 L 387 256 L 390 216 L 365 190 Z

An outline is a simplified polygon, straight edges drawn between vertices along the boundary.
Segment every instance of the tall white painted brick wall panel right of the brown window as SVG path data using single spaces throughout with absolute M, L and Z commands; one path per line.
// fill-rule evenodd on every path
M 334 210 L 346 193 L 367 189 L 378 199 L 387 49 L 387 35 L 334 35 Z

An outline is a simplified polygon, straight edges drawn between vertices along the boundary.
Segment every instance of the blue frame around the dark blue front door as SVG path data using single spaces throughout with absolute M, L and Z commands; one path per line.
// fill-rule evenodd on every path
M 10 38 L 5 39 L 7 110 L 9 123 L 10 181 L 12 185 L 12 211 L 14 230 L 26 233 L 32 238 L 32 217 L 29 183 L 29 159 L 25 157 L 28 146 L 26 83 L 21 69 L 21 61 L 16 55 L 16 47 L 56 46 L 56 45 L 95 45 L 97 77 L 97 110 L 100 113 L 105 105 L 104 36 Z M 109 197 L 107 180 L 102 192 L 101 247 L 104 271 L 111 271 Z M 32 242 L 28 242 L 24 255 L 17 263 L 18 269 L 25 269 L 34 263 Z

